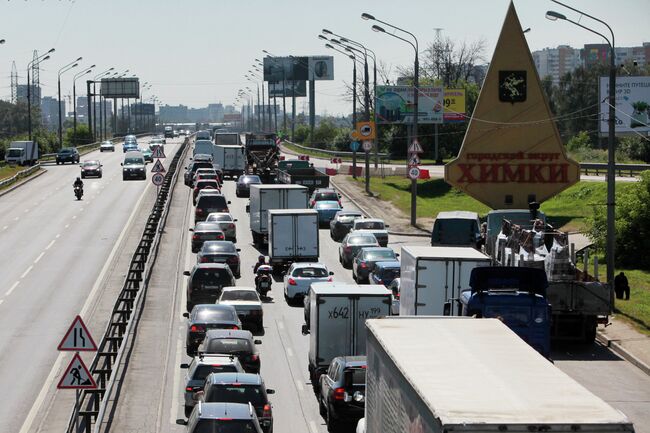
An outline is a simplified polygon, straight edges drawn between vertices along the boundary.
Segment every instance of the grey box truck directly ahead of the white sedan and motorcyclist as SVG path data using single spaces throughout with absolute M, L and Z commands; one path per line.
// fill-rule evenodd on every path
M 293 262 L 317 262 L 318 212 L 313 209 L 268 211 L 269 261 L 279 273 Z

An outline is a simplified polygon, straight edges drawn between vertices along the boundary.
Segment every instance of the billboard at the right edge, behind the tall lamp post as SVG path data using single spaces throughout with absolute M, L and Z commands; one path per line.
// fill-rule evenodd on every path
M 609 130 L 609 77 L 600 77 L 600 132 Z M 616 77 L 616 133 L 650 133 L 650 77 Z

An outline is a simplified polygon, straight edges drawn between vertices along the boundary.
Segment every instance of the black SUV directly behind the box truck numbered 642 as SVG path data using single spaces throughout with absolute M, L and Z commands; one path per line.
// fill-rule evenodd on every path
M 356 425 L 363 417 L 366 400 L 365 356 L 338 356 L 321 375 L 318 403 L 329 431 L 342 424 Z

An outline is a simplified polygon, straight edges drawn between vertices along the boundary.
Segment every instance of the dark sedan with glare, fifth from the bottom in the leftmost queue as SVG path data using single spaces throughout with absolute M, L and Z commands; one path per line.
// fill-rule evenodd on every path
M 188 356 L 196 355 L 208 329 L 242 329 L 237 311 L 231 305 L 196 304 L 183 317 L 187 318 L 185 351 Z

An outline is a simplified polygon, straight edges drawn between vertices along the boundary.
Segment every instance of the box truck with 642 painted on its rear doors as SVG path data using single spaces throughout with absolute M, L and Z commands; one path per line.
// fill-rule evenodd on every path
M 309 289 L 309 377 L 318 390 L 321 374 L 337 356 L 366 354 L 364 322 L 390 315 L 391 292 L 382 285 L 313 283 Z

